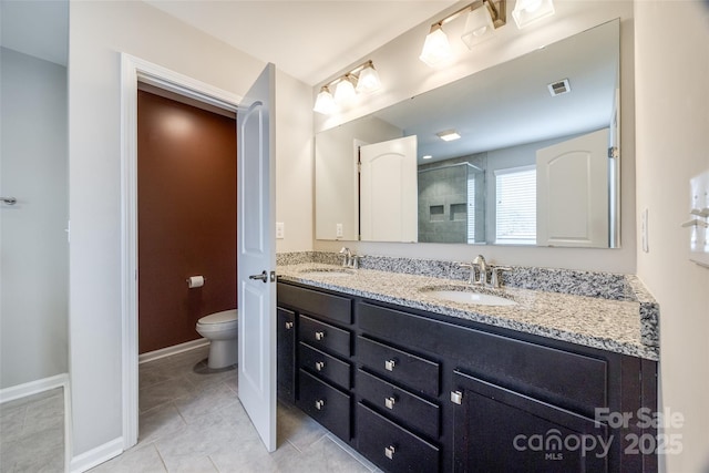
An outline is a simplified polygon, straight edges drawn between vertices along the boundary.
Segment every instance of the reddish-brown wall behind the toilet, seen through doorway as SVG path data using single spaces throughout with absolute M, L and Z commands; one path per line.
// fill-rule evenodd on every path
M 138 352 L 199 338 L 237 307 L 236 121 L 145 91 L 137 100 Z M 202 275 L 202 288 L 186 279 Z

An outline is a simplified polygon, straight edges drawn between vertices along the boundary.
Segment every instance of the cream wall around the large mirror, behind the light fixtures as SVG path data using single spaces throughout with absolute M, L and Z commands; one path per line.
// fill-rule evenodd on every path
M 615 18 L 620 18 L 620 62 L 621 62 L 621 248 L 530 248 L 508 246 L 471 246 L 442 244 L 381 244 L 353 243 L 348 246 L 361 254 L 415 256 L 449 260 L 472 259 L 477 253 L 495 264 L 544 266 L 586 270 L 635 273 L 635 122 L 634 122 L 634 32 L 633 2 L 624 0 L 588 1 L 557 0 L 556 14 L 542 22 L 518 30 L 511 18 L 513 3 L 507 3 L 508 22 L 495 32 L 495 38 L 467 50 L 461 41 L 452 40 L 456 48 L 456 61 L 442 69 L 431 69 L 418 56 L 432 22 L 439 14 L 410 30 L 390 43 L 373 51 L 364 59 L 372 59 L 383 83 L 383 89 L 372 95 L 359 99 L 354 106 L 339 115 L 322 117 L 316 114 L 316 131 L 347 122 L 357 116 L 391 105 L 393 103 L 455 81 L 462 76 L 508 61 L 533 51 L 544 44 L 567 38 Z M 460 6 L 459 6 L 460 7 Z M 454 10 L 452 8 L 451 10 Z M 460 37 L 456 28 L 464 21 L 452 22 L 446 28 L 449 38 Z M 357 65 L 352 63 L 352 65 Z M 341 71 L 341 73 L 347 72 Z M 323 78 L 323 83 L 327 79 Z M 312 102 L 319 85 L 312 89 Z M 412 245 L 415 245 L 412 247 Z M 314 244 L 318 250 L 337 250 L 341 243 L 320 241 Z

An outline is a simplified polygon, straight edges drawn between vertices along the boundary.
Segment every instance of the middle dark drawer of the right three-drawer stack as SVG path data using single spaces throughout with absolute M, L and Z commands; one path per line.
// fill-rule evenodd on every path
M 405 426 L 431 439 L 439 438 L 441 414 L 438 404 L 362 370 L 357 370 L 357 393 L 364 402 L 377 407 Z

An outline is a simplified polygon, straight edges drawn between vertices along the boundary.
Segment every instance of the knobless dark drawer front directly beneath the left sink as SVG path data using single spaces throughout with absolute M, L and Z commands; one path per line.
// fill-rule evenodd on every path
M 336 322 L 352 323 L 352 300 L 316 290 L 279 282 L 278 304 L 297 308 Z

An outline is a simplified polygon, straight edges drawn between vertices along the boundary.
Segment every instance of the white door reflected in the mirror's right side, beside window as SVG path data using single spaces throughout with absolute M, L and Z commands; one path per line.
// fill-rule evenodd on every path
M 608 128 L 536 152 L 537 245 L 607 248 Z

